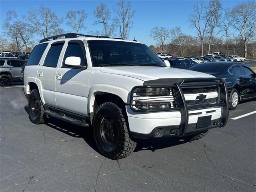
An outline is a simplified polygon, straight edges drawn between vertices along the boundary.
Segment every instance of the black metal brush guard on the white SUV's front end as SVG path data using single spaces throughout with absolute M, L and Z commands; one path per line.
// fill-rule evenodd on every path
M 215 104 L 205 104 L 205 105 L 195 105 L 188 107 L 186 104 L 186 100 L 184 94 L 182 92 L 182 88 L 204 88 L 209 86 L 218 86 L 218 102 Z M 138 110 L 134 108 L 133 99 L 134 90 L 137 88 L 174 88 L 175 90 L 175 97 L 178 101 L 178 105 L 176 108 L 170 108 L 168 110 Z M 204 108 L 213 108 L 213 107 L 222 107 L 222 116 L 218 120 L 218 124 L 211 124 L 211 126 L 205 128 L 197 128 L 196 130 L 188 130 L 191 124 L 188 124 L 188 110 L 198 110 Z M 144 82 L 143 86 L 136 86 L 131 91 L 130 96 L 130 108 L 134 112 L 161 112 L 161 111 L 180 111 L 181 113 L 181 121 L 179 126 L 164 126 L 165 134 L 163 136 L 176 136 L 176 137 L 184 137 L 188 135 L 192 135 L 195 133 L 204 132 L 205 130 L 217 127 L 224 127 L 228 122 L 228 115 L 229 115 L 229 104 L 228 104 L 228 90 L 226 86 L 226 82 L 222 80 L 222 78 L 186 78 L 186 79 L 158 79 L 158 80 L 150 80 Z M 154 131 L 158 128 L 156 127 L 150 134 L 140 134 L 136 132 L 131 132 L 131 136 L 134 138 L 152 138 L 154 137 Z M 172 130 L 178 129 L 178 134 L 172 135 L 170 132 Z

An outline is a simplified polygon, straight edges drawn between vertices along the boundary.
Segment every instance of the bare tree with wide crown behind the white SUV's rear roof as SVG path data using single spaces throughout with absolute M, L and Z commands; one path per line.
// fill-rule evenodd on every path
M 46 8 L 43 5 L 40 6 L 39 10 L 29 10 L 28 16 L 24 18 L 36 28 L 36 31 L 43 38 L 58 34 L 59 26 L 63 22 L 63 19 L 58 19 L 57 15 L 50 8 Z

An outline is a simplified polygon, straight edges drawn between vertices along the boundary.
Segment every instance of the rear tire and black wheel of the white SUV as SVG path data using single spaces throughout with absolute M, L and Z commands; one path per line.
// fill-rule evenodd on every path
M 28 100 L 28 117 L 34 124 L 44 124 L 46 122 L 46 114 L 44 114 L 44 107 L 38 93 L 34 89 L 29 95 Z

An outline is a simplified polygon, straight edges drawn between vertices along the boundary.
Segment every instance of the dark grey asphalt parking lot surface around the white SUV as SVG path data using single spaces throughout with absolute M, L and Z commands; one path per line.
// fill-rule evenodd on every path
M 100 155 L 90 129 L 32 124 L 27 103 L 22 85 L 0 88 L 2 192 L 256 191 L 256 115 L 239 117 L 256 110 L 255 100 L 200 140 L 140 140 L 121 160 Z

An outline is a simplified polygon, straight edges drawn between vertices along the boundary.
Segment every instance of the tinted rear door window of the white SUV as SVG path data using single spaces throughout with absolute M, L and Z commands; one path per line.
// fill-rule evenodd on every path
M 44 66 L 47 66 L 47 67 L 57 66 L 62 47 L 63 47 L 63 44 L 53 44 L 51 46 L 44 60 Z

